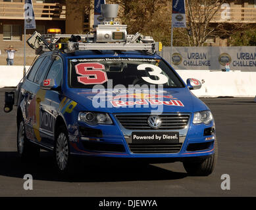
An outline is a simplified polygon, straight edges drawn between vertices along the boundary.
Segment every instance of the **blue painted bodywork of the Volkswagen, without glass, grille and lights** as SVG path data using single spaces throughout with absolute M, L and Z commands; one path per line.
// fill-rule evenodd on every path
M 190 143 L 199 143 L 206 142 L 203 136 L 205 128 L 215 126 L 214 121 L 211 121 L 209 125 L 203 123 L 198 125 L 193 125 L 193 113 L 203 110 L 209 110 L 209 108 L 194 96 L 191 91 L 186 86 L 186 83 L 182 81 L 181 77 L 175 72 L 176 76 L 184 84 L 184 88 L 173 88 L 173 89 L 163 89 L 165 91 L 164 95 L 172 95 L 174 98 L 178 98 L 184 106 L 163 106 L 163 113 L 171 112 L 182 112 L 190 114 L 190 123 L 188 127 L 188 132 L 186 133 L 186 138 L 182 144 L 180 152 L 173 154 L 135 154 L 130 152 L 129 146 L 126 143 L 124 134 L 122 133 L 122 127 L 120 127 L 118 121 L 116 121 L 116 113 L 150 113 L 152 110 L 157 108 L 152 108 L 149 105 L 148 108 L 131 108 L 131 107 L 120 107 L 120 108 L 94 108 L 90 97 L 95 96 L 95 93 L 92 93 L 91 89 L 74 89 L 68 87 L 68 59 L 75 58 L 116 58 L 113 53 L 109 54 L 86 54 L 86 53 L 77 53 L 77 54 L 59 54 L 63 59 L 63 84 L 61 94 L 57 91 L 45 91 L 45 100 L 40 105 L 40 109 L 45 109 L 45 112 L 52 112 L 53 116 L 53 129 L 51 132 L 41 132 L 41 140 L 37 137 L 30 139 L 45 148 L 53 149 L 55 141 L 55 132 L 57 117 L 61 117 L 66 124 L 68 129 L 68 136 L 70 138 L 70 154 L 76 154 L 80 156 L 101 156 L 101 157 L 115 157 L 115 158 L 185 158 L 185 157 L 200 157 L 200 156 L 211 156 L 214 154 L 214 141 L 215 135 L 207 136 L 213 137 L 209 142 L 213 142 L 210 148 L 207 150 L 200 150 L 195 152 L 188 152 L 186 150 L 188 144 Z M 163 59 L 160 56 L 154 55 L 145 55 L 140 53 L 126 53 L 118 54 L 119 58 L 155 58 Z M 22 85 L 22 89 L 30 89 L 34 95 L 39 91 L 39 85 L 31 84 L 30 81 L 25 80 Z M 113 91 L 108 89 L 107 91 Z M 103 98 L 107 99 L 106 96 Z M 25 102 L 24 98 L 21 100 L 20 108 L 22 110 L 23 116 L 26 118 L 25 111 Z M 78 121 L 78 113 L 82 111 L 90 112 L 105 112 L 108 113 L 113 121 L 113 125 L 88 125 L 87 123 Z M 29 121 L 29 120 L 28 120 Z M 27 122 L 28 122 L 27 121 Z M 38 122 L 39 123 L 39 119 Z M 29 123 L 27 123 L 29 124 Z M 29 126 L 29 125 L 28 125 Z M 39 125 L 38 125 L 39 126 Z M 109 144 L 121 144 L 124 145 L 125 152 L 95 152 L 90 150 L 85 150 L 83 146 L 83 141 L 81 139 L 81 134 L 78 132 L 79 127 L 88 127 L 93 129 L 99 129 L 102 131 L 102 137 L 98 138 L 99 141 L 109 143 Z M 30 129 L 34 129 L 33 125 L 30 125 Z M 35 135 L 36 136 L 36 135 Z M 99 142 L 100 144 L 100 142 Z

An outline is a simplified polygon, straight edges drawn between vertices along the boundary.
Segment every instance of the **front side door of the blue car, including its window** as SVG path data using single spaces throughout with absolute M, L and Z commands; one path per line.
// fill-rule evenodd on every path
M 55 84 L 61 90 L 63 80 L 63 60 L 60 56 L 53 56 L 53 62 L 47 72 L 45 79 L 55 79 Z M 49 148 L 54 146 L 54 125 L 57 118 L 59 104 L 61 102 L 61 91 L 45 90 L 45 98 L 40 102 L 40 125 L 39 132 L 43 144 Z

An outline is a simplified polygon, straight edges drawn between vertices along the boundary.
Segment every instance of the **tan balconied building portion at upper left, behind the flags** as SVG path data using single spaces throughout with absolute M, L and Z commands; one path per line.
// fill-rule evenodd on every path
M 90 5 L 77 7 L 72 0 L 32 0 L 32 3 L 39 33 L 47 33 L 48 28 L 61 28 L 62 33 L 85 33 L 93 25 L 93 12 L 83 11 Z M 32 33 L 34 30 L 26 30 L 26 39 Z M 18 49 L 14 64 L 23 65 L 24 0 L 0 0 L 0 65 L 6 64 L 4 49 L 9 45 Z M 34 57 L 34 50 L 26 47 L 26 64 L 30 65 Z

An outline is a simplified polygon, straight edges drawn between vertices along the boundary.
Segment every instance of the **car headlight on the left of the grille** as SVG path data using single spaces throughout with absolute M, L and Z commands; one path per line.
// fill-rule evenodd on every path
M 78 114 L 78 121 L 86 122 L 89 125 L 113 124 L 111 117 L 107 113 L 80 112 Z

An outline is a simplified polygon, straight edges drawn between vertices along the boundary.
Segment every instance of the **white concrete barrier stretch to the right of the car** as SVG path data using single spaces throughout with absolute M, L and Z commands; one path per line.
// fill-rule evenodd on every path
M 256 72 L 211 72 L 209 70 L 178 70 L 180 77 L 199 79 L 202 87 L 192 91 L 197 97 L 255 97 Z

